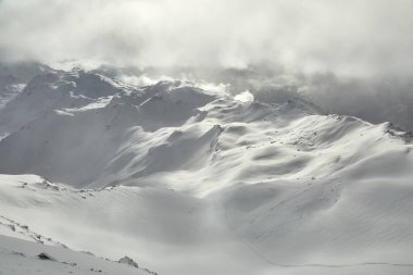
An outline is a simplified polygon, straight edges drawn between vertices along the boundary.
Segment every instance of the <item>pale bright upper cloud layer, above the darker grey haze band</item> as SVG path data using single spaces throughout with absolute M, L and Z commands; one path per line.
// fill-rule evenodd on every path
M 411 75 L 412 0 L 2 0 L 3 60 Z

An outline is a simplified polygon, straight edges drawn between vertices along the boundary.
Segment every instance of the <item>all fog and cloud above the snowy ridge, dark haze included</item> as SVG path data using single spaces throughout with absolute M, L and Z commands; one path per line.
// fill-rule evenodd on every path
M 412 11 L 411 0 L 2 0 L 0 60 L 179 73 L 412 129 Z

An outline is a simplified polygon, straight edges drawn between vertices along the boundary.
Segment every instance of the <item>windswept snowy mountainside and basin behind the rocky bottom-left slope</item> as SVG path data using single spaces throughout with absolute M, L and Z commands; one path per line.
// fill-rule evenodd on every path
M 75 71 L 35 77 L 0 130 L 2 235 L 159 274 L 413 273 L 411 137 L 389 124 Z

